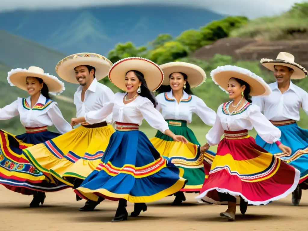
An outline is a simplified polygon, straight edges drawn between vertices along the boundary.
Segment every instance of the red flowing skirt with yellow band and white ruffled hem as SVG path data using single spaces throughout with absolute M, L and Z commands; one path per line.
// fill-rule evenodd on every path
M 252 205 L 265 205 L 292 193 L 299 176 L 297 169 L 258 146 L 247 130 L 225 131 L 209 178 L 196 199 L 207 196 L 219 202 L 219 192 L 241 196 Z

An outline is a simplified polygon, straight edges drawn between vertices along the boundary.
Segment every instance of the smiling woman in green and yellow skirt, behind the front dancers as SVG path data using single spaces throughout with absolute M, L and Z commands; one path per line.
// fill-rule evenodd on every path
M 160 68 L 166 77 L 158 89 L 160 94 L 156 96 L 158 102 L 156 109 L 161 111 L 174 134 L 183 135 L 190 143 L 195 144 L 192 146 L 174 142 L 159 130 L 155 137 L 150 139 L 160 155 L 169 157 L 170 160 L 182 157 L 190 160 L 189 164 L 183 161 L 179 165 L 184 168 L 183 178 L 188 180 L 185 187 L 174 194 L 176 198 L 173 204 L 179 205 L 185 201 L 183 192 L 200 192 L 215 156 L 215 153 L 210 151 L 205 153 L 204 158 L 198 154 L 197 145 L 200 144 L 193 131 L 187 127 L 187 123 L 191 123 L 192 114 L 196 113 L 205 124 L 213 126 L 216 113 L 190 90 L 205 82 L 206 74 L 201 67 L 191 63 L 171 62 L 160 65 Z M 195 160 L 194 165 L 191 165 L 192 160 Z

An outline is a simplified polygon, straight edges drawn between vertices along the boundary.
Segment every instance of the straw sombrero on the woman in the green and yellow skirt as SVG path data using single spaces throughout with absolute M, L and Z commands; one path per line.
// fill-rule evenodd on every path
M 182 72 L 187 75 L 187 82 L 190 87 L 199 87 L 205 82 L 205 71 L 192 63 L 185 62 L 171 62 L 160 65 L 161 70 L 164 72 L 163 85 L 169 85 L 169 76 L 174 72 Z

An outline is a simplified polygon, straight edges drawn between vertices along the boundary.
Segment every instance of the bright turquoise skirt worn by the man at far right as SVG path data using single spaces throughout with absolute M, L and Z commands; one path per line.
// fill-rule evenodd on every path
M 256 143 L 301 172 L 299 183 L 302 189 L 308 189 L 308 130 L 298 127 L 297 123 L 276 126 L 281 131 L 282 144 L 292 149 L 291 156 L 283 156 L 276 144 L 268 144 L 256 136 Z M 303 183 L 303 184 L 302 184 Z

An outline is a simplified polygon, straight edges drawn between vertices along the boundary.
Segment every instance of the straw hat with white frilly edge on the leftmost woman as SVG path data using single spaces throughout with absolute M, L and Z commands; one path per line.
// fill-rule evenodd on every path
M 64 83 L 57 77 L 44 73 L 40 67 L 29 67 L 28 69 L 16 68 L 7 73 L 7 81 L 11 86 L 16 86 L 27 91 L 27 77 L 36 77 L 43 79 L 50 92 L 61 93 L 65 90 Z

